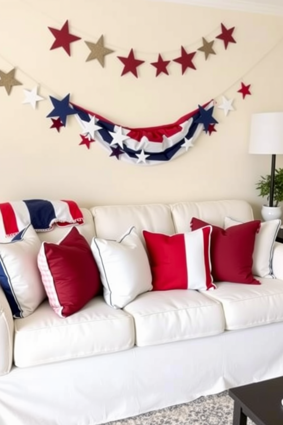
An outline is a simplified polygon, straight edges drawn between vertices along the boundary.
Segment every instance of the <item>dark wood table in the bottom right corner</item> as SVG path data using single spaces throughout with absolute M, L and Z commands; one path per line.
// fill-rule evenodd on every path
M 233 425 L 246 425 L 247 417 L 256 425 L 283 424 L 283 377 L 230 388 L 234 400 Z

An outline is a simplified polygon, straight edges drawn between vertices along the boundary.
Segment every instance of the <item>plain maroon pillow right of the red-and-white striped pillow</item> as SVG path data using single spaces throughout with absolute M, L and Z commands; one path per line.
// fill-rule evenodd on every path
M 207 226 L 205 221 L 192 218 L 191 229 Z M 252 275 L 252 253 L 260 220 L 249 221 L 224 230 L 212 226 L 210 240 L 211 272 L 215 282 L 252 283 L 260 285 Z

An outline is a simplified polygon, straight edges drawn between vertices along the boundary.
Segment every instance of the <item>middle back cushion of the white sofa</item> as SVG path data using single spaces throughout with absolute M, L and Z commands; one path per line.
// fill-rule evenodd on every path
M 93 207 L 95 233 L 98 238 L 114 239 L 115 241 L 134 226 L 137 234 L 143 239 L 143 230 L 149 232 L 173 235 L 174 224 L 168 205 L 149 204 L 133 206 Z

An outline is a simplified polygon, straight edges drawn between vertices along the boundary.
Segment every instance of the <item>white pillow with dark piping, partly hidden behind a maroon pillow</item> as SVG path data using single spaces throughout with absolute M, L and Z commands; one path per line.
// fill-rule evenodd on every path
M 224 219 L 224 229 L 237 226 L 242 221 L 230 217 Z M 274 278 L 272 275 L 271 261 L 273 245 L 281 226 L 281 220 L 263 221 L 259 232 L 255 235 L 255 247 L 252 254 L 252 274 L 260 278 Z M 243 244 L 245 241 L 243 241 Z

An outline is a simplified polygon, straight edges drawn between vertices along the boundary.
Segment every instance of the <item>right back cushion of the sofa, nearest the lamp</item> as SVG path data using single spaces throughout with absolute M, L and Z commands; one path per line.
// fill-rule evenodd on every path
M 179 202 L 171 204 L 172 218 L 176 233 L 190 232 L 193 217 L 224 227 L 224 218 L 233 217 L 238 221 L 252 221 L 252 207 L 246 201 Z

